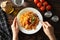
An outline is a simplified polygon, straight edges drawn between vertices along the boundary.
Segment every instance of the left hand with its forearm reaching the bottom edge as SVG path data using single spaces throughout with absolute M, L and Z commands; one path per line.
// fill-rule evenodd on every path
M 12 33 L 13 33 L 13 39 L 12 40 L 18 40 L 19 29 L 18 29 L 18 25 L 16 22 L 16 18 L 14 19 L 13 24 L 11 25 L 11 29 L 12 29 Z

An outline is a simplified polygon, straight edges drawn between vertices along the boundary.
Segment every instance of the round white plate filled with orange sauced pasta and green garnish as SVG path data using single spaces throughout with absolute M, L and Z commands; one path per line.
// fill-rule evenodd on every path
M 25 34 L 38 32 L 42 27 L 42 21 L 41 13 L 32 7 L 22 9 L 17 15 L 18 27 Z

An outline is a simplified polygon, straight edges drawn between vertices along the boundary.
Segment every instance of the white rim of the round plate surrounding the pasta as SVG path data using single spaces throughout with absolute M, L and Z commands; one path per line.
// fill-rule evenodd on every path
M 24 12 L 27 12 L 27 11 L 32 11 L 33 13 L 35 13 L 39 17 L 40 21 L 39 21 L 39 24 L 37 25 L 35 30 L 34 29 L 26 30 L 23 27 L 21 27 L 20 24 L 19 24 L 20 15 L 23 14 Z M 23 32 L 25 34 L 34 34 L 34 33 L 38 32 L 42 27 L 42 24 L 41 24 L 42 21 L 43 21 L 43 17 L 41 15 L 41 13 L 37 9 L 31 8 L 31 7 L 22 9 L 17 15 L 17 22 L 18 22 L 19 29 L 20 29 L 21 32 Z

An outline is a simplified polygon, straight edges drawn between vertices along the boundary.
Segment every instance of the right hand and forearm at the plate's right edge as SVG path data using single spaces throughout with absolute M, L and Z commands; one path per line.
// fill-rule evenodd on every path
M 48 22 L 43 22 L 43 31 L 49 37 L 50 40 L 56 40 L 54 35 L 54 29 Z

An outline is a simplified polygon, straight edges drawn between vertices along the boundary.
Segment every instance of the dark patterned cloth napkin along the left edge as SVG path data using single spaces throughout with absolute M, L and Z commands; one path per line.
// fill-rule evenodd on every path
M 0 8 L 0 40 L 11 40 L 9 28 L 7 26 L 5 13 Z

